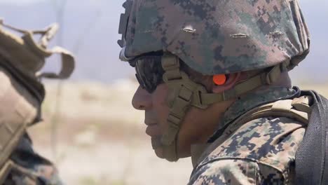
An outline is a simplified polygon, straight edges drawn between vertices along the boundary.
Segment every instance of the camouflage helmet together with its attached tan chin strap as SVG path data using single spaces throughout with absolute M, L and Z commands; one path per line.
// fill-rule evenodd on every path
M 178 159 L 177 135 L 189 107 L 206 109 L 214 102 L 271 84 L 309 52 L 308 28 L 298 0 L 127 0 L 123 7 L 118 31 L 122 34 L 120 59 L 130 64 L 137 60 L 132 66 L 146 67 L 138 64 L 147 62 L 143 55 L 164 53 L 161 64 L 170 113 L 160 144 L 168 160 Z M 214 94 L 180 71 L 179 60 L 205 75 L 266 70 Z M 140 71 L 148 70 L 137 73 Z M 151 83 L 147 78 L 138 80 L 144 86 Z

